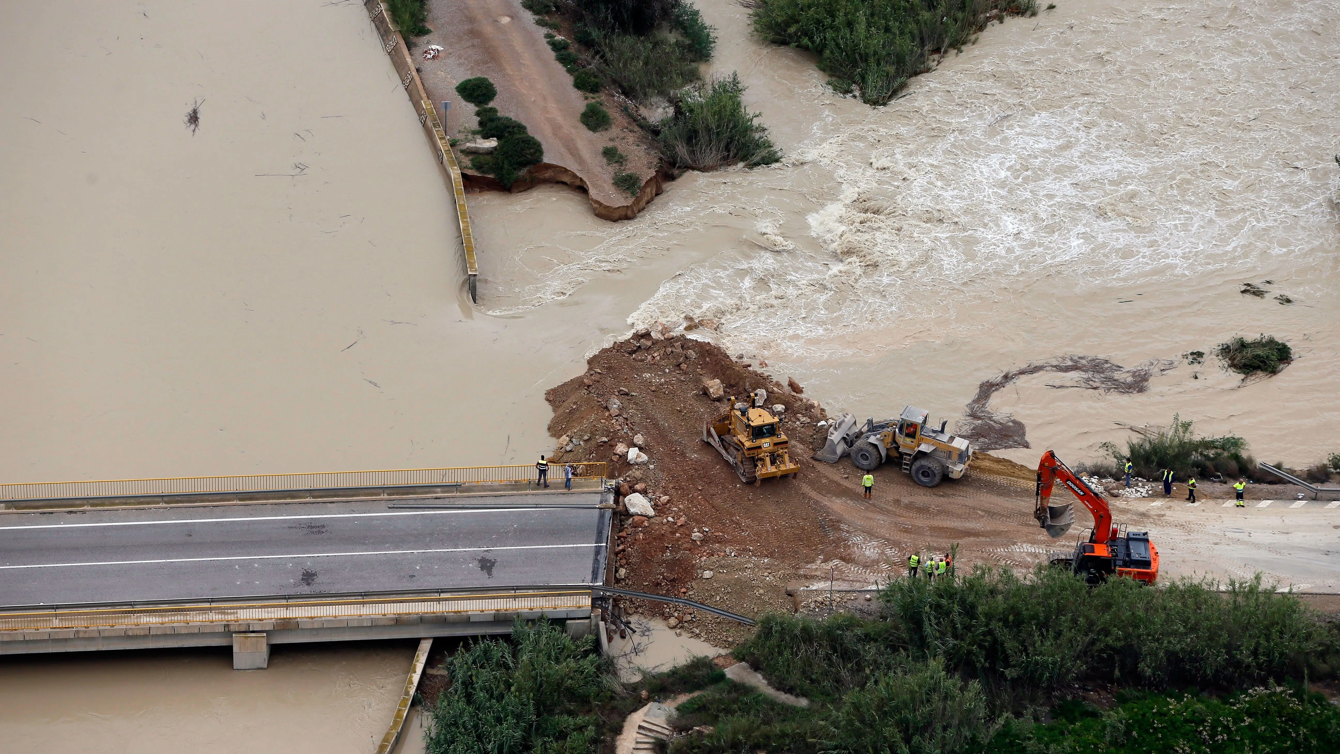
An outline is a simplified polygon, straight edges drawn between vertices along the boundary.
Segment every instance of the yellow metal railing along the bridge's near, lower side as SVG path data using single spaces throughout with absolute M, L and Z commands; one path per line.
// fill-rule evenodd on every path
M 261 623 L 338 620 L 421 614 L 515 613 L 580 610 L 591 606 L 588 589 L 504 594 L 456 594 L 382 600 L 310 600 L 234 602 L 220 605 L 162 605 L 74 610 L 0 612 L 4 631 L 74 631 L 197 623 Z

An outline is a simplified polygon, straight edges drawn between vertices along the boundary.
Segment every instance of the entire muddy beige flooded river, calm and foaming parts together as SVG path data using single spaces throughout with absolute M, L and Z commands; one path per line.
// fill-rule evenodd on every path
M 472 196 L 482 311 L 359 4 L 9 8 L 0 479 L 528 463 L 545 388 L 686 314 L 860 415 L 954 420 L 1068 354 L 1172 362 L 1140 394 L 996 394 L 1026 463 L 1175 412 L 1268 460 L 1340 449 L 1333 3 L 1061 0 L 882 109 L 699 4 L 787 160 L 685 176 L 619 224 L 561 186 Z M 1270 380 L 1182 360 L 1260 333 L 1298 354 Z M 27 750 L 366 751 L 410 655 L 8 660 L 0 726 Z

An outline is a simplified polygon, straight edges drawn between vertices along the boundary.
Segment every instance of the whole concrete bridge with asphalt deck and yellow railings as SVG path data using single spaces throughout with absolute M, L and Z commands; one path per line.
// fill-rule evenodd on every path
M 508 633 L 541 616 L 584 635 L 608 570 L 604 464 L 571 491 L 531 478 L 0 486 L 0 655 L 230 645 L 255 668 L 272 644 Z

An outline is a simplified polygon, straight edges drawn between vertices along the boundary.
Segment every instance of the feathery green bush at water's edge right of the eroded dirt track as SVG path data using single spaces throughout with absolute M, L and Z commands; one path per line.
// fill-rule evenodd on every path
M 780 160 L 781 153 L 757 122 L 758 114 L 745 110 L 740 97 L 744 90 L 734 72 L 682 90 L 674 114 L 659 123 L 666 160 L 698 170 L 740 162 L 754 168 Z

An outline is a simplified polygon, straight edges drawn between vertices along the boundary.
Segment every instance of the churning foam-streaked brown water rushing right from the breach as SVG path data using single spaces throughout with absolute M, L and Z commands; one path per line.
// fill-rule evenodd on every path
M 681 178 L 512 311 L 689 252 L 630 325 L 714 318 L 831 407 L 947 417 L 1032 360 L 1134 366 L 1273 333 L 1300 358 L 1272 380 L 1213 360 L 1136 396 L 1033 377 L 993 408 L 1073 455 L 1175 412 L 1290 463 L 1340 444 L 1333 4 L 1075 0 L 993 24 L 882 109 L 748 40 L 745 9 L 702 5 L 714 64 L 741 71 L 787 158 Z M 1297 303 L 1240 295 L 1246 280 Z

